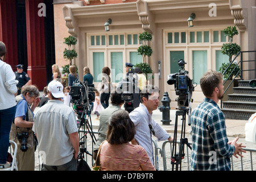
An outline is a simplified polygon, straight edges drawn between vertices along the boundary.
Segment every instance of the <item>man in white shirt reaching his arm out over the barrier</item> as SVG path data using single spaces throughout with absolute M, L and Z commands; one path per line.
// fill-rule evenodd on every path
M 150 157 L 151 163 L 154 165 L 154 155 L 151 134 L 159 141 L 174 140 L 166 130 L 164 130 L 152 118 L 152 111 L 158 109 L 159 89 L 153 85 L 146 85 L 142 88 L 141 104 L 139 107 L 131 111 L 130 118 L 134 122 L 136 134 L 133 144 L 139 144 L 144 147 Z

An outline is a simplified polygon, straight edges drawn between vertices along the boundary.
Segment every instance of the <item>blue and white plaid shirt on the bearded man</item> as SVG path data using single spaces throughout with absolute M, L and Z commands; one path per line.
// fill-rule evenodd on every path
M 192 170 L 230 170 L 234 146 L 228 144 L 225 117 L 220 107 L 205 98 L 191 114 Z

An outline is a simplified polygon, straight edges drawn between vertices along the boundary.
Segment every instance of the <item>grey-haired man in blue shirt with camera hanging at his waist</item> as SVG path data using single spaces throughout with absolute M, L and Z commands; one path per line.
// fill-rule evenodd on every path
M 32 126 L 33 112 L 40 102 L 39 94 L 35 85 L 28 85 L 22 88 L 19 96 L 16 96 L 18 104 L 11 127 L 10 140 L 18 146 L 16 160 L 19 171 L 35 170 L 35 142 Z

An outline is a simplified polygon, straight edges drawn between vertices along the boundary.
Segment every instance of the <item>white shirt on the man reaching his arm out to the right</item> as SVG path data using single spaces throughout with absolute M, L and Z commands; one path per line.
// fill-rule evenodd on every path
M 151 130 L 148 125 L 152 126 L 152 129 L 155 131 L 155 137 L 158 141 L 167 140 L 170 135 L 158 123 L 156 123 L 152 118 L 152 113 L 148 113 L 147 107 L 143 104 L 140 104 L 139 107 L 131 111 L 129 115 L 136 128 L 135 139 L 140 146 L 145 148 L 152 164 L 154 164 Z

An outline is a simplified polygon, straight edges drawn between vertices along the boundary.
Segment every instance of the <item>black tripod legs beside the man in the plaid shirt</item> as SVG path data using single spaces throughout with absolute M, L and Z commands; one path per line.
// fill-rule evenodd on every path
M 176 166 L 176 171 L 181 171 L 181 160 L 184 158 L 184 146 L 187 144 L 187 146 L 191 148 L 190 144 L 188 143 L 188 139 L 185 138 L 185 122 L 186 122 L 186 113 L 188 112 L 188 109 L 183 110 L 177 110 L 176 111 L 176 118 L 175 118 L 175 127 L 174 127 L 174 142 L 172 143 L 172 156 L 171 156 L 171 164 L 172 164 L 172 171 L 174 171 L 174 166 Z M 180 135 L 180 146 L 179 146 L 179 153 L 176 153 L 177 148 L 177 121 L 179 116 L 182 116 L 181 121 L 181 135 Z

